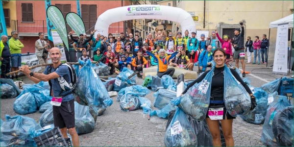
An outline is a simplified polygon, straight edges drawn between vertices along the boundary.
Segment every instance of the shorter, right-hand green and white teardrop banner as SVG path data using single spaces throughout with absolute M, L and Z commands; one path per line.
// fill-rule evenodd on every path
M 78 14 L 70 12 L 66 15 L 65 19 L 77 36 L 86 32 L 84 22 Z

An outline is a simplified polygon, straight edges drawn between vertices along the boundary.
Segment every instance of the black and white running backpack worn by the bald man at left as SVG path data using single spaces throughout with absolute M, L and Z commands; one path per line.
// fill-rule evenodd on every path
M 57 80 L 59 82 L 59 85 L 61 87 L 62 90 L 67 91 L 67 90 L 73 90 L 76 86 L 76 82 L 77 82 L 77 75 L 75 73 L 75 69 L 73 68 L 72 65 L 67 64 L 67 63 L 61 63 L 56 70 L 58 70 L 58 68 L 60 66 L 67 66 L 69 71 L 70 71 L 70 76 L 71 76 L 71 82 L 68 83 L 63 77 L 58 77 Z M 48 74 L 51 73 L 53 66 L 51 65 L 48 69 Z M 52 89 L 52 84 L 51 81 L 49 80 L 49 85 L 50 85 L 50 91 Z M 71 94 L 71 93 L 70 93 Z M 51 93 L 50 93 L 51 95 Z M 63 96 L 64 97 L 64 96 Z

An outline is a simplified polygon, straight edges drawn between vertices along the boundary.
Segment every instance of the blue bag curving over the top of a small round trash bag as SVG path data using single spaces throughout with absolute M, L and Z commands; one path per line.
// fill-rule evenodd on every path
M 123 89 L 121 89 L 118 93 L 117 101 L 120 101 L 124 94 L 128 92 L 134 92 L 134 93 L 141 93 L 139 94 L 140 97 L 145 97 L 150 93 L 150 90 L 146 87 L 140 86 L 140 85 L 133 85 L 128 86 Z

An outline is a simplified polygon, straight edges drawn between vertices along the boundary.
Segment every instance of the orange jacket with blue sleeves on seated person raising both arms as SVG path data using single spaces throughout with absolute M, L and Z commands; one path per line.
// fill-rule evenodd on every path
M 172 59 L 178 52 L 175 51 L 171 55 L 166 56 L 165 61 L 163 62 L 159 55 L 154 55 L 153 53 L 147 51 L 148 55 L 152 56 L 154 60 L 157 60 L 158 68 L 157 72 L 166 72 L 168 70 L 169 60 Z

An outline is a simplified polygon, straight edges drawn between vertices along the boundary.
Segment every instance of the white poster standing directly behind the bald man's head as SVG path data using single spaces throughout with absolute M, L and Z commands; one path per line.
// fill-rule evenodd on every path
M 51 34 L 52 34 L 52 39 L 53 39 L 54 47 L 60 49 L 60 52 L 61 52 L 61 59 L 60 59 L 60 61 L 62 63 L 65 63 L 66 62 L 66 55 L 65 55 L 65 50 L 64 50 L 64 45 L 63 45 L 62 39 L 60 38 L 60 36 L 57 33 L 56 29 L 51 29 Z M 48 63 L 52 63 L 49 55 L 48 55 L 47 60 L 48 60 Z

